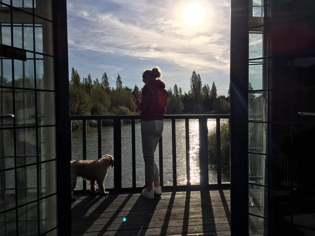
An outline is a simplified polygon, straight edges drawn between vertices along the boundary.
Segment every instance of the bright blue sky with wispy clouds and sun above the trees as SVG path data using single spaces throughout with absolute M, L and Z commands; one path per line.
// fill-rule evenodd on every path
M 68 0 L 69 78 L 106 72 L 116 87 L 143 87 L 159 66 L 166 88 L 188 93 L 192 71 L 226 95 L 230 80 L 230 0 Z

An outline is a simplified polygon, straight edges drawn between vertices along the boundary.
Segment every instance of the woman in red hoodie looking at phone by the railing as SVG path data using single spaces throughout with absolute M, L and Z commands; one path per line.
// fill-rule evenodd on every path
M 148 199 L 153 199 L 154 194 L 162 194 L 154 152 L 163 132 L 163 115 L 167 107 L 168 94 L 160 77 L 159 67 L 144 70 L 142 81 L 145 86 L 142 89 L 141 100 L 136 101 L 141 116 L 142 152 L 147 186 L 141 194 Z

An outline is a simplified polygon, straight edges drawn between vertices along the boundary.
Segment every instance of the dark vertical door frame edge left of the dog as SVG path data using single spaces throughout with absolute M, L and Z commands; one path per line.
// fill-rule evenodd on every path
M 71 235 L 71 123 L 66 0 L 53 0 L 58 235 Z M 67 102 L 68 101 L 68 102 Z M 66 181 L 65 181 L 66 180 Z

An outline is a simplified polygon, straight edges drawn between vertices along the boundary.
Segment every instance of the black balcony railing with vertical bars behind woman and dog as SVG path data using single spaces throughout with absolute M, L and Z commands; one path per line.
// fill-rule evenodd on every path
M 229 184 L 221 183 L 221 131 L 220 120 L 229 119 L 230 115 L 164 115 L 164 120 L 172 121 L 172 165 L 173 165 L 173 185 L 164 186 L 164 189 L 186 189 L 186 188 L 200 188 L 209 187 L 210 185 L 219 185 L 228 187 Z M 185 134 L 186 134 L 186 177 L 187 184 L 177 186 L 177 173 L 176 173 L 176 132 L 175 132 L 175 120 L 185 120 Z M 190 183 L 190 154 L 189 154 L 189 120 L 199 120 L 199 165 L 200 165 L 200 184 L 191 185 Z M 216 159 L 217 159 L 217 184 L 209 184 L 209 170 L 208 170 L 208 119 L 216 119 Z M 112 190 L 136 190 L 140 189 L 136 187 L 136 155 L 135 155 L 135 120 L 140 120 L 138 115 L 73 115 L 70 116 L 71 121 L 82 121 L 83 128 L 83 160 L 86 160 L 86 121 L 96 120 L 98 127 L 98 158 L 102 156 L 102 120 L 113 120 L 113 132 L 114 132 L 114 188 Z M 122 188 L 122 160 L 121 160 L 121 121 L 131 120 L 131 132 L 132 132 L 132 187 Z M 163 136 L 159 141 L 159 173 L 160 184 L 163 186 Z M 83 191 L 86 190 L 86 181 L 83 180 Z

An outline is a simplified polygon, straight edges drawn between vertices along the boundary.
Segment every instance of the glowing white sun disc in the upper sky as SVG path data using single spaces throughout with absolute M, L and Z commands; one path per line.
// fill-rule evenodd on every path
M 195 2 L 184 9 L 183 18 L 188 26 L 197 27 L 203 23 L 205 14 L 203 7 L 198 2 Z

